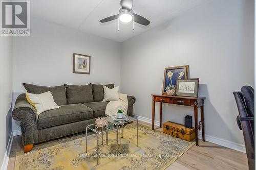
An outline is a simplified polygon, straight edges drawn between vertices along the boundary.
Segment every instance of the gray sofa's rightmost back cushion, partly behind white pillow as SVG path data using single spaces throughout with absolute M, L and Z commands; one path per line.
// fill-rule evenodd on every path
M 115 84 L 106 84 L 104 86 L 112 89 L 114 88 Z M 93 101 L 94 102 L 101 102 L 104 99 L 104 90 L 102 84 L 92 84 L 93 89 Z

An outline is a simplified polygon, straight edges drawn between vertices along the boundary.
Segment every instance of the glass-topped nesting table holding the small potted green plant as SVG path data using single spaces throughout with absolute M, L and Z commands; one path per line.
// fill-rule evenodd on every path
M 119 119 L 117 115 L 115 116 L 108 116 L 106 117 L 106 120 L 108 120 L 109 123 L 115 124 L 117 127 L 117 145 L 118 145 L 118 130 L 119 130 L 119 153 L 121 154 L 121 138 L 123 138 L 123 127 L 127 123 L 131 122 L 137 122 L 137 135 L 136 135 L 136 145 L 138 147 L 138 119 L 134 118 L 129 115 L 123 115 L 123 118 Z M 116 147 L 116 154 L 117 154 L 117 149 Z

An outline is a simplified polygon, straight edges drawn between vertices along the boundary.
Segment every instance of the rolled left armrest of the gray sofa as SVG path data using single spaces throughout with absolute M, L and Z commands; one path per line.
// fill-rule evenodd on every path
M 33 117 L 34 122 L 37 122 L 38 115 L 35 108 L 28 103 L 25 93 L 20 94 L 16 100 L 14 109 L 12 111 L 12 117 L 15 120 L 22 121 L 26 117 Z

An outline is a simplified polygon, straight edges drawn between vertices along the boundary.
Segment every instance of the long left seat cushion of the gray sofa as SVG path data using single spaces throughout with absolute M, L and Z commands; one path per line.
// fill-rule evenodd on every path
M 38 129 L 93 118 L 93 110 L 83 104 L 63 105 L 38 115 Z

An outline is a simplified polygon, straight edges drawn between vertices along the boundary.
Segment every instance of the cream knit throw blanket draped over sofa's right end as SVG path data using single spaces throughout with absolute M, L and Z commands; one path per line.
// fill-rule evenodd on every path
M 114 116 L 117 115 L 118 110 L 123 110 L 123 114 L 127 114 L 128 109 L 128 99 L 127 94 L 119 93 L 119 101 L 110 101 L 106 105 L 105 115 Z

